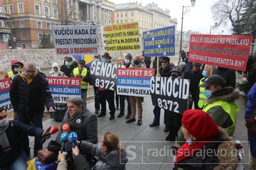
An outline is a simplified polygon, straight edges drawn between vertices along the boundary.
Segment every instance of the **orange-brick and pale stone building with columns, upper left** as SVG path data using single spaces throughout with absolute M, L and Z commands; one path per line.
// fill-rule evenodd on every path
M 9 45 L 39 48 L 43 34 L 52 42 L 54 25 L 113 23 L 114 4 L 104 0 L 3 0 L 5 22 L 11 29 Z

